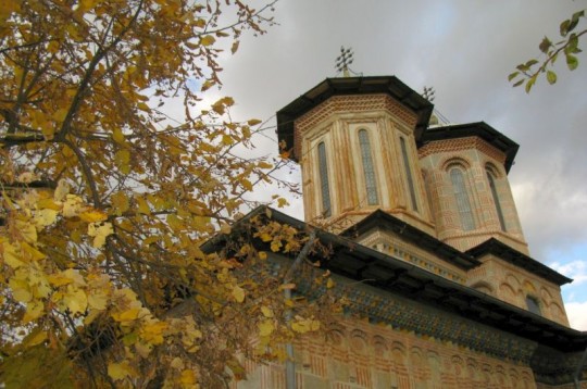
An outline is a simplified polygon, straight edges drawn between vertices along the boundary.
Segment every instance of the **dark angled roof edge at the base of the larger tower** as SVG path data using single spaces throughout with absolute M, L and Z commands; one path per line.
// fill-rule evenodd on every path
M 446 262 L 465 271 L 480 265 L 480 262 L 471 255 L 462 253 L 453 247 L 436 239 L 432 235 L 428 235 L 382 210 L 373 212 L 361 222 L 345 230 L 341 235 L 345 237 L 353 237 L 377 227 L 401 235 L 407 241 L 413 242 L 424 250 L 432 251 Z

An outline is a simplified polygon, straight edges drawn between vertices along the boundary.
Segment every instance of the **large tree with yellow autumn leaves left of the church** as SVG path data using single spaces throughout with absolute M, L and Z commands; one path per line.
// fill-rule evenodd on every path
M 288 286 L 254 266 L 267 255 L 253 239 L 296 252 L 294 228 L 259 216 L 222 250 L 202 248 L 284 163 L 239 156 L 260 121 L 233 122 L 232 98 L 198 110 L 221 84 L 222 48 L 263 34 L 272 7 L 1 3 L 7 387 L 214 388 L 242 377 L 239 356 L 274 359 L 267 346 L 319 327 L 312 304 L 284 299 Z M 185 122 L 172 126 L 162 110 L 177 98 Z

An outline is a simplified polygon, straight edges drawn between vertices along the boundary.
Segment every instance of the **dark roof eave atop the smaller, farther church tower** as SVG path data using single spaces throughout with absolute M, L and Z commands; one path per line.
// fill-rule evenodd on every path
M 520 146 L 485 122 L 432 127 L 416 139 L 419 148 L 430 141 L 479 137 L 505 154 L 505 171 L 510 172 Z

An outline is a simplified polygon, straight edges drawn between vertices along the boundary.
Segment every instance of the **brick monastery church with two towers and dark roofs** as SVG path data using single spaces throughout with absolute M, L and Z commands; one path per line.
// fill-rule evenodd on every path
M 305 222 L 272 218 L 332 226 L 314 229 L 351 314 L 234 388 L 587 388 L 587 332 L 561 298 L 571 279 L 529 256 L 520 225 L 519 146 L 484 122 L 438 124 L 433 109 L 395 76 L 361 76 L 277 112 Z

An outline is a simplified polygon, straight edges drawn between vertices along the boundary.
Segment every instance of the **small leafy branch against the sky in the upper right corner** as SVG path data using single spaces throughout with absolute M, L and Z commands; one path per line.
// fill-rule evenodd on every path
M 508 76 L 508 80 L 514 87 L 525 84 L 526 92 L 529 92 L 539 76 L 546 75 L 549 84 L 557 83 L 557 73 L 553 71 L 554 63 L 560 54 L 564 55 L 570 71 L 578 66 L 576 54 L 582 52 L 578 47 L 579 38 L 587 34 L 587 28 L 577 29 L 580 22 L 585 20 L 585 10 L 575 12 L 571 18 L 561 23 L 560 35 L 562 40 L 553 43 L 550 38 L 545 37 L 538 49 L 544 58 L 540 60 L 530 59 L 516 66 L 516 71 Z

